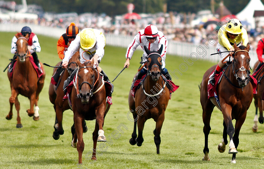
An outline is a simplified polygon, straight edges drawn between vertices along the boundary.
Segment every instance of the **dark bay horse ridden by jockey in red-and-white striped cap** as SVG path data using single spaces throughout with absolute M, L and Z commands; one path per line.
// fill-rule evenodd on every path
M 148 55 L 146 79 L 139 89 L 135 92 L 135 98 L 132 96 L 132 90 L 129 92 L 128 102 L 130 112 L 134 118 L 134 129 L 132 138 L 129 140 L 131 145 L 141 146 L 143 139 L 143 128 L 147 119 L 154 119 L 156 127 L 153 131 L 154 142 L 157 148 L 157 154 L 160 153 L 160 133 L 165 118 L 165 110 L 168 105 L 170 93 L 165 85 L 166 81 L 161 76 L 163 45 L 158 51 L 150 51 L 146 46 L 144 49 Z M 158 90 L 157 90 L 158 89 Z M 138 126 L 138 136 L 136 127 Z

